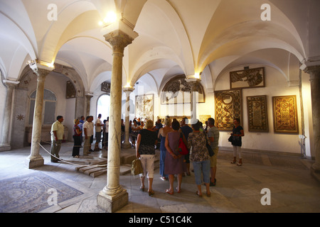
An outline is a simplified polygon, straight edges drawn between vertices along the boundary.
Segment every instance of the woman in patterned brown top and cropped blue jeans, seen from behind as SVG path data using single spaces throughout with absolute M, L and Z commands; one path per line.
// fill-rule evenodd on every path
M 193 132 L 188 135 L 188 148 L 192 147 L 192 153 L 190 156 L 191 162 L 193 162 L 193 170 L 196 178 L 196 184 L 198 191 L 196 194 L 202 197 L 201 183 L 203 175 L 203 182 L 206 184 L 206 193 L 209 197 L 210 193 L 210 155 L 208 148 L 206 147 L 208 143 L 207 135 L 200 131 L 201 124 L 199 121 L 192 125 Z

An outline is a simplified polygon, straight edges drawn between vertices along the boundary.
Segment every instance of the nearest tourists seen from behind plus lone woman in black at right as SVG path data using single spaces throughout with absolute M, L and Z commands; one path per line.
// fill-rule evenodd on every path
M 239 119 L 234 121 L 232 135 L 235 137 L 233 142 L 234 160 L 236 162 L 237 152 L 240 160 L 238 165 L 242 165 L 242 158 L 240 154 L 241 137 L 244 135 L 243 128 L 240 126 Z M 188 148 L 188 154 L 181 155 L 178 153 L 178 146 L 180 138 Z M 196 194 L 203 196 L 201 192 L 201 184 L 206 185 L 206 195 L 210 196 L 210 186 L 215 186 L 215 172 L 217 170 L 217 155 L 218 155 L 218 140 L 219 131 L 215 127 L 215 120 L 208 118 L 206 127 L 200 121 L 192 123 L 188 126 L 188 118 L 183 118 L 179 123 L 175 119 L 166 117 L 164 127 L 159 131 L 154 131 L 153 121 L 146 121 L 145 128 L 139 132 L 136 144 L 136 156 L 142 161 L 144 173 L 140 175 L 142 191 L 145 190 L 145 178 L 148 179 L 149 195 L 154 194 L 152 183 L 154 179 L 154 158 L 155 145 L 160 140 L 160 175 L 161 179 L 169 180 L 169 189 L 166 193 L 174 194 L 174 192 L 181 193 L 181 182 L 183 175 L 191 175 L 190 162 L 193 163 L 193 172 L 197 184 Z M 214 155 L 210 156 L 206 145 L 210 145 Z M 177 186 L 174 188 L 174 177 L 177 178 Z

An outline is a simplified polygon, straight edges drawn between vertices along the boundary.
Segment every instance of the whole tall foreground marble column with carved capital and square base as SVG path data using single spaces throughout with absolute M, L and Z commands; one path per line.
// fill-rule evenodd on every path
M 107 185 L 97 195 L 97 206 L 114 212 L 128 204 L 128 193 L 120 184 L 122 58 L 137 33 L 122 21 L 102 29 L 105 40 L 112 45 L 112 75 L 110 90 L 109 143 L 107 160 Z

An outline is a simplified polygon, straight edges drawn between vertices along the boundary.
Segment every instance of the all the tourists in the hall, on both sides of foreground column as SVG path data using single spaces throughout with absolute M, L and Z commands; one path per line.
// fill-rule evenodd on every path
M 190 163 L 193 164 L 193 172 L 197 185 L 196 194 L 203 196 L 201 192 L 201 184 L 206 185 L 206 195 L 210 196 L 210 186 L 215 186 L 215 173 L 217 171 L 217 155 L 218 155 L 218 140 L 219 131 L 215 127 L 215 120 L 208 118 L 206 126 L 203 128 L 201 121 L 191 123 L 188 126 L 188 118 L 183 118 L 181 122 L 176 119 L 171 119 L 167 116 L 164 120 L 164 126 L 161 120 L 154 122 L 147 120 L 139 121 L 135 118 L 133 124 L 130 122 L 130 135 L 132 146 L 136 150 L 136 156 L 142 162 L 144 173 L 140 175 L 142 191 L 145 190 L 145 178 L 148 179 L 149 196 L 154 194 L 152 188 L 154 179 L 154 160 L 156 146 L 160 149 L 160 175 L 162 180 L 169 180 L 169 189 L 166 193 L 174 194 L 174 192 L 181 193 L 181 182 L 183 175 L 191 175 Z M 75 119 L 73 126 L 73 157 L 79 157 L 80 148 L 82 147 L 82 140 L 84 139 L 83 155 L 90 154 L 91 151 L 101 150 L 99 143 L 102 140 L 102 146 L 107 147 L 107 133 L 108 120 L 101 121 L 101 114 L 98 115 L 95 123 L 93 116 L 81 116 L 80 120 Z M 64 139 L 63 116 L 58 116 L 57 121 L 51 127 L 51 162 L 58 162 L 59 150 Z M 236 118 L 234 121 L 233 133 L 231 133 L 230 142 L 233 145 L 233 160 L 232 164 L 237 162 L 237 154 L 239 156 L 238 166 L 242 165 L 241 145 L 244 131 L 240 126 L 240 119 Z M 95 148 L 91 149 L 93 142 L 93 133 L 95 127 Z M 122 121 L 122 128 L 124 131 L 124 124 Z M 83 135 L 83 137 L 82 137 Z M 186 145 L 188 153 L 181 155 L 179 153 L 180 140 Z M 158 143 L 159 142 L 159 143 Z M 207 145 L 213 150 L 214 155 L 209 155 Z M 177 186 L 174 188 L 174 178 L 177 178 Z

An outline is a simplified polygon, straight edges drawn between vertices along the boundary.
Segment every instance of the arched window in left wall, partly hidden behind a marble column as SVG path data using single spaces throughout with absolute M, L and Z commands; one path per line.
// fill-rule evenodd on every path
M 55 105 L 57 102 L 57 98 L 53 92 L 49 90 L 44 90 L 43 95 L 43 118 L 42 123 L 44 125 L 52 124 L 55 122 Z M 30 111 L 29 111 L 29 125 L 33 124 L 33 114 L 34 114 L 34 106 L 36 103 L 36 91 L 34 91 L 30 96 Z

